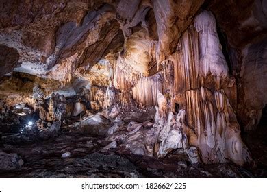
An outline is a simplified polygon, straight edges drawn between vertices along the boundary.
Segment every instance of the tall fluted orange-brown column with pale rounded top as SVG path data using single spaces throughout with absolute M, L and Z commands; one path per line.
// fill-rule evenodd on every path
M 196 16 L 194 26 L 181 36 L 177 50 L 167 58 L 173 62 L 173 80 L 166 70 L 169 62 L 165 62 L 164 82 L 168 83 L 163 89 L 171 87 L 168 84 L 173 81 L 171 107 L 177 103 L 186 110 L 189 128 L 183 130 L 189 144 L 199 147 L 204 163 L 232 160 L 243 165 L 251 156 L 242 142 L 236 115 L 223 90 L 222 82 L 228 69 L 220 50 L 214 16 L 206 11 Z

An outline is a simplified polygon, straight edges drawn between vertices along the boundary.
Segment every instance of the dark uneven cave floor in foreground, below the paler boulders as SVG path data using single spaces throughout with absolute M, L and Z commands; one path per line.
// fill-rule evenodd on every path
M 12 171 L 0 171 L 0 178 L 255 177 L 251 171 L 232 163 L 192 167 L 174 157 L 159 160 L 128 152 L 118 153 L 116 149 L 103 150 L 103 143 L 105 138 L 101 136 L 64 133 L 48 141 L 5 144 L 1 150 L 19 154 L 24 165 Z M 65 152 L 71 152 L 71 157 L 62 158 Z

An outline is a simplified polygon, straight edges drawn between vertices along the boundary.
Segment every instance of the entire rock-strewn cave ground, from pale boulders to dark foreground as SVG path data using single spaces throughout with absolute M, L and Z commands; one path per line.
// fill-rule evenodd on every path
M 20 116 L 22 112 L 27 115 Z M 197 149 L 194 153 L 196 147 L 186 143 L 173 145 L 180 136 L 175 134 L 175 129 L 162 136 L 165 138 L 162 154 L 159 153 L 162 156 L 155 154 L 156 145 L 151 147 L 151 143 L 155 142 L 157 134 L 157 114 L 154 108 L 131 107 L 129 110 L 115 105 L 102 112 L 86 112 L 62 122 L 39 119 L 29 125 L 27 119 L 36 118 L 36 114 L 29 108 L 19 111 L 14 108 L 1 116 L 0 178 L 267 176 L 264 123 L 257 131 L 243 134 L 253 163 L 244 167 L 234 163 L 204 165 L 201 158 L 195 156 L 198 154 Z

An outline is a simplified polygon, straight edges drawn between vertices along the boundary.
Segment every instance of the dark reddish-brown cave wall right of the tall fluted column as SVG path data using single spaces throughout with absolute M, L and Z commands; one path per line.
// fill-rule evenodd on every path
M 231 74 L 237 80 L 237 116 L 255 130 L 266 105 L 266 1 L 206 1 L 223 34 Z

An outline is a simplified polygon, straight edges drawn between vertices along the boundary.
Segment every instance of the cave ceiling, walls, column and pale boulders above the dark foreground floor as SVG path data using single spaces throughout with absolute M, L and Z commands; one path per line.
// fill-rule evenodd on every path
M 252 162 L 241 132 L 257 128 L 267 104 L 265 1 L 1 1 L 0 10 L 0 109 L 34 113 L 24 140 L 67 127 L 107 136 L 104 151 Z

